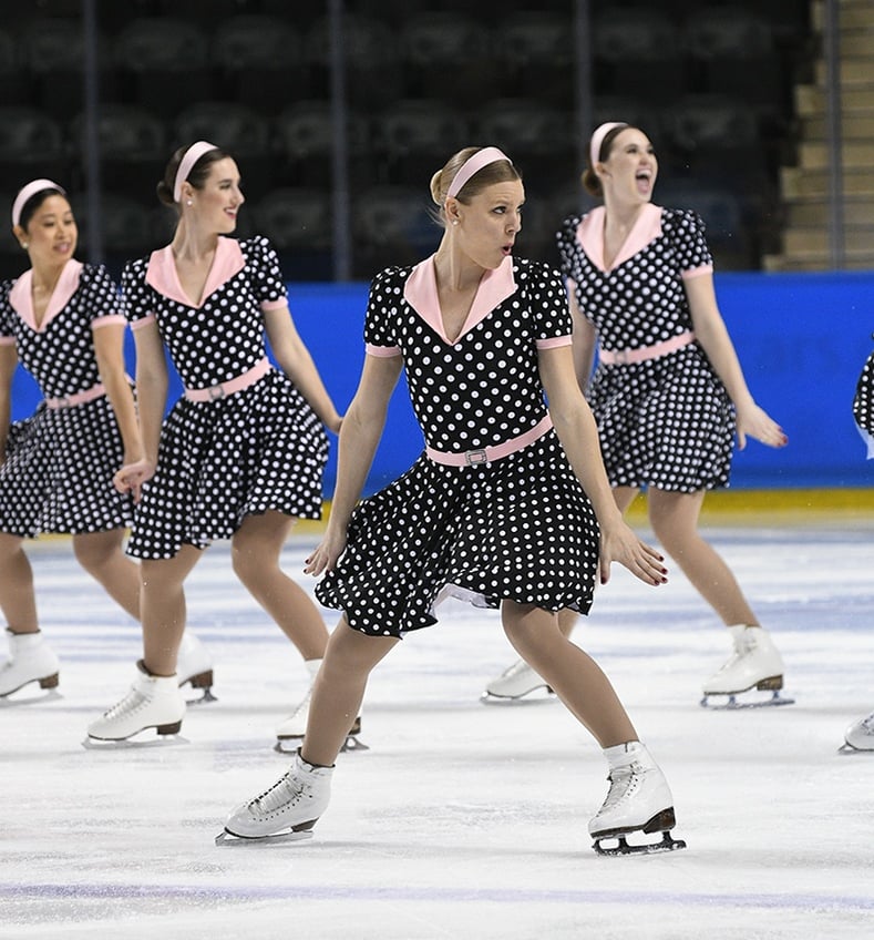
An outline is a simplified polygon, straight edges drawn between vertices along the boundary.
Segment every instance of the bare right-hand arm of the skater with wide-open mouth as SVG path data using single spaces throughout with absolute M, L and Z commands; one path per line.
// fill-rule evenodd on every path
M 789 443 L 785 432 L 755 403 L 747 388 L 738 354 L 717 306 L 713 276 L 701 274 L 687 278 L 683 284 L 686 296 L 689 298 L 695 336 L 734 402 L 738 413 L 738 447 L 741 450 L 747 447 L 748 435 L 768 447 L 785 447 Z

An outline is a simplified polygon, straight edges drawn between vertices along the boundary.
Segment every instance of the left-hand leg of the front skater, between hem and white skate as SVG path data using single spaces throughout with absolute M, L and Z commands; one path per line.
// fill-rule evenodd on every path
M 330 767 L 361 711 L 367 681 L 373 667 L 400 641 L 367 636 L 340 619 L 328 640 L 309 706 L 307 736 L 300 756 L 308 764 Z

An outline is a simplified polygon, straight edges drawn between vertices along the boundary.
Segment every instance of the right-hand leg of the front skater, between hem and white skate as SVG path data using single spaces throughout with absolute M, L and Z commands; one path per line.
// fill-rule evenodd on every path
M 546 680 L 601 747 L 638 739 L 610 681 L 562 634 L 555 614 L 514 601 L 504 601 L 501 613 L 504 632 L 520 656 Z

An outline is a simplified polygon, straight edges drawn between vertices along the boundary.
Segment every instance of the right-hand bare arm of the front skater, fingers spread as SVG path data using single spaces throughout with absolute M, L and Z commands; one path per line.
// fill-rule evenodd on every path
M 570 348 L 542 349 L 539 365 L 558 440 L 598 519 L 601 584 L 609 581 L 614 561 L 647 584 L 664 584 L 667 581 L 664 558 L 628 528 L 613 498 L 600 454 L 598 428 L 577 385 Z

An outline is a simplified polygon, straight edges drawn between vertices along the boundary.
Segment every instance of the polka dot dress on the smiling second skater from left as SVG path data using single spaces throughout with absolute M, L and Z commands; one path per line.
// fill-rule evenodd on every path
M 241 376 L 266 355 L 264 310 L 285 307 L 276 252 L 264 237 L 219 238 L 199 306 L 184 296 L 169 247 L 122 275 L 134 329 L 153 319 L 187 389 Z M 127 553 L 173 558 L 229 539 L 248 515 L 321 517 L 325 428 L 280 370 L 209 401 L 184 396 L 161 431 L 157 468 L 136 508 Z

